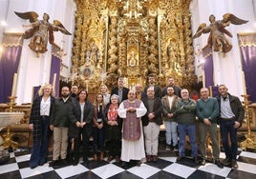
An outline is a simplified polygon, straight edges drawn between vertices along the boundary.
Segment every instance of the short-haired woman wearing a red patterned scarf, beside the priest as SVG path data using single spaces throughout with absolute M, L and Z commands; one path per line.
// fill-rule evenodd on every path
M 122 119 L 117 114 L 118 109 L 118 95 L 111 96 L 111 103 L 108 104 L 106 109 L 107 126 L 106 126 L 106 140 L 109 144 L 109 157 L 108 162 L 111 162 L 116 157 L 116 162 L 120 162 L 120 149 L 121 149 L 121 128 Z

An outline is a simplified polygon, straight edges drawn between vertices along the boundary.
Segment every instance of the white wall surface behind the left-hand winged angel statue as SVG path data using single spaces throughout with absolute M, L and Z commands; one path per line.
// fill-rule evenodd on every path
M 5 8 L 8 9 L 6 18 L 8 27 L 5 28 L 6 32 L 24 32 L 28 30 L 28 28 L 23 28 L 22 25 L 29 24 L 30 22 L 19 18 L 13 11 L 36 11 L 39 15 L 39 19 L 42 19 L 43 13 L 47 12 L 50 15 L 49 22 L 53 23 L 53 20 L 59 20 L 67 30 L 71 33 L 74 32 L 75 3 L 73 0 L 10 0 L 9 6 L 5 6 Z M 67 52 L 67 55 L 64 56 L 62 60 L 68 67 L 61 75 L 69 76 L 73 35 L 67 36 L 59 31 L 54 31 L 54 43 L 61 46 L 61 41 L 65 41 L 63 49 Z M 51 45 L 48 44 L 47 52 L 36 57 L 36 54 L 28 47 L 29 43 L 30 39 L 24 40 L 18 70 L 17 104 L 32 102 L 32 87 L 49 83 L 50 79 L 52 58 Z

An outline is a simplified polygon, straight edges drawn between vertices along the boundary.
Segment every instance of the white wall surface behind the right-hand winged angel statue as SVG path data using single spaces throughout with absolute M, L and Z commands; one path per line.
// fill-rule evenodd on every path
M 231 51 L 225 53 L 225 56 L 221 52 L 213 52 L 215 85 L 224 84 L 228 87 L 230 93 L 239 97 L 244 93 L 244 87 L 242 87 L 241 54 L 237 33 L 256 30 L 254 26 L 255 7 L 254 0 L 193 0 L 190 6 L 193 34 L 195 34 L 200 24 L 209 24 L 208 18 L 210 14 L 214 14 L 216 20 L 221 20 L 224 13 L 230 12 L 239 18 L 249 21 L 244 25 L 230 25 L 226 27 L 226 30 L 233 34 L 233 38 L 227 37 L 233 46 Z M 203 48 L 207 44 L 208 35 L 209 33 L 202 34 L 201 37 L 194 39 L 194 48 L 196 48 L 196 45 L 200 45 Z M 200 57 L 196 56 L 196 59 L 198 58 Z M 198 60 L 195 63 L 196 67 L 199 67 Z M 199 67 L 196 70 L 199 76 L 202 75 L 201 68 Z

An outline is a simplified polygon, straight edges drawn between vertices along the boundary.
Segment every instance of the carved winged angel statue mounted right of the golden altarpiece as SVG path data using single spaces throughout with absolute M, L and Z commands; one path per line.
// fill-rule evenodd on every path
M 211 14 L 209 16 L 210 24 L 208 26 L 206 26 L 205 23 L 201 24 L 193 38 L 200 37 L 202 33 L 210 32 L 206 45 L 208 48 L 212 49 L 213 47 L 214 51 L 223 52 L 228 52 L 231 50 L 232 45 L 228 42 L 225 35 L 229 37 L 233 36 L 228 30 L 225 30 L 224 28 L 229 26 L 230 23 L 234 25 L 241 25 L 247 23 L 248 21 L 240 19 L 232 13 L 225 13 L 223 17 L 223 20 L 216 21 L 215 16 Z

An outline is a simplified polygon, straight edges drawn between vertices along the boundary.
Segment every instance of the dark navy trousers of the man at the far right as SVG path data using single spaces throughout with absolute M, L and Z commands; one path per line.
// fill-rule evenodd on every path
M 234 129 L 235 120 L 221 119 L 221 135 L 224 146 L 225 157 L 236 160 L 237 157 L 237 129 Z M 228 144 L 228 133 L 231 146 Z

